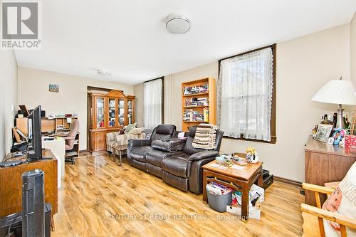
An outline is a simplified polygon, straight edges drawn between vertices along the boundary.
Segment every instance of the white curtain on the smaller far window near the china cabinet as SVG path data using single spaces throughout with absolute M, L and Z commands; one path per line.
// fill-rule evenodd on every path
M 162 79 L 151 80 L 143 84 L 144 126 L 155 128 L 162 124 Z

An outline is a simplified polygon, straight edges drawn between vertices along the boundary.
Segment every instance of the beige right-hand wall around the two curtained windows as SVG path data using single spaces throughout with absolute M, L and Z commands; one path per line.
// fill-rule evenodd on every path
M 336 109 L 333 105 L 312 102 L 310 98 L 340 75 L 350 80 L 349 54 L 350 24 L 278 43 L 277 143 L 223 139 L 221 152 L 244 152 L 247 147 L 255 147 L 264 167 L 272 174 L 304 181 L 304 144 L 321 115 L 332 114 Z M 181 83 L 206 76 L 218 77 L 217 62 L 165 77 L 164 84 L 172 88 L 165 88 L 164 115 L 170 113 L 170 116 L 164 122 L 182 129 Z

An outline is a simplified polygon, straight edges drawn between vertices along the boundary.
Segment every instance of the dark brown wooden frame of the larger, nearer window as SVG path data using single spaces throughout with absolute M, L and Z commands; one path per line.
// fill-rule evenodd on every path
M 243 141 L 248 141 L 248 142 L 263 142 L 263 143 L 271 143 L 271 144 L 276 144 L 277 142 L 277 134 L 276 134 L 276 66 L 277 66 L 277 44 L 272 44 L 270 46 L 264 46 L 261 48 L 256 48 L 251 51 L 246 51 L 244 53 L 239 53 L 234 56 L 229 56 L 226 58 L 221 58 L 219 59 L 219 70 L 218 70 L 218 76 L 220 76 L 220 67 L 221 67 L 221 61 L 226 60 L 229 58 L 234 58 L 236 56 L 242 56 L 246 53 L 252 53 L 254 51 L 260 51 L 265 48 L 271 48 L 272 49 L 272 55 L 273 55 L 273 88 L 272 88 L 272 105 L 271 105 L 271 120 L 270 120 L 270 127 L 271 127 L 271 141 L 263 141 L 260 139 L 249 139 L 249 138 L 244 138 L 244 135 L 241 135 L 241 137 L 235 138 L 235 137 L 229 137 L 229 136 L 224 136 L 224 138 L 227 139 L 237 139 L 237 140 L 243 140 Z

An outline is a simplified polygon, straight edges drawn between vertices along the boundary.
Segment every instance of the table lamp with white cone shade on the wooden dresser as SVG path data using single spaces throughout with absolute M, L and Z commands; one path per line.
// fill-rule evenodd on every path
M 337 128 L 344 128 L 342 105 L 356 105 L 355 90 L 350 80 L 330 80 L 313 96 L 313 101 L 337 104 Z

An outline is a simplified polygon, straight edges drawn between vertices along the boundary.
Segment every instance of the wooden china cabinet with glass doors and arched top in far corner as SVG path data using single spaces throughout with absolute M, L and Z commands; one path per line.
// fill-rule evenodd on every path
M 135 96 L 120 90 L 91 94 L 88 99 L 88 144 L 90 152 L 106 149 L 106 134 L 135 122 Z

